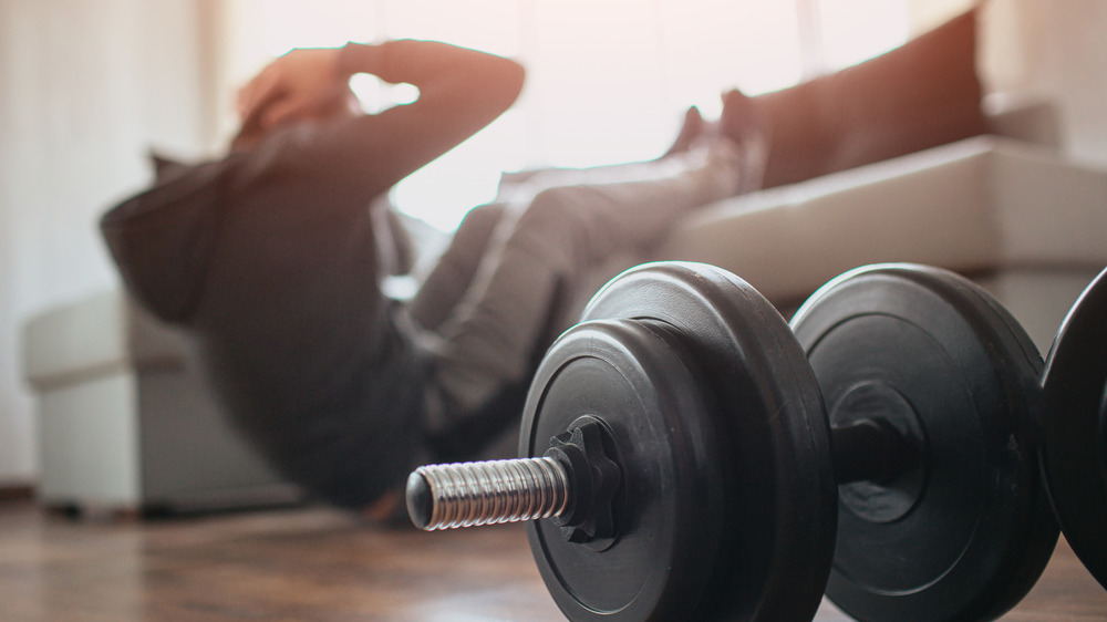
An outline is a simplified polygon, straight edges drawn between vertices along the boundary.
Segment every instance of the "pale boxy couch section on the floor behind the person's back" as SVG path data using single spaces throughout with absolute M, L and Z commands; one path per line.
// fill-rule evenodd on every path
M 37 315 L 38 499 L 94 511 L 203 511 L 302 497 L 230 429 L 184 333 L 123 291 Z

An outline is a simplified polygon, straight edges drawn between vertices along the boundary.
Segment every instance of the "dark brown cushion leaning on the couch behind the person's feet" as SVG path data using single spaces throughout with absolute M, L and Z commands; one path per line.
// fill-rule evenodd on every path
M 765 187 L 985 132 L 969 11 L 883 55 L 756 97 L 770 126 Z

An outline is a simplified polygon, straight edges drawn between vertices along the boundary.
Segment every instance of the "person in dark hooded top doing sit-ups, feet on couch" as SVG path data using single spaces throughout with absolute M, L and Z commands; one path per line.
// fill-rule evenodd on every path
M 420 97 L 360 114 L 359 72 Z M 195 334 L 236 426 L 335 505 L 387 505 L 416 464 L 509 426 L 559 292 L 759 175 L 751 132 L 632 182 L 536 187 L 475 209 L 414 301 L 387 299 L 396 231 L 370 206 L 521 85 L 516 63 L 436 42 L 296 50 L 241 91 L 225 158 L 167 168 L 102 220 L 134 296 Z

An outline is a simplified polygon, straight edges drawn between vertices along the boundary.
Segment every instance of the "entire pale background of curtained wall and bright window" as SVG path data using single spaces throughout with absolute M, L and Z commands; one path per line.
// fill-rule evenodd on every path
M 1067 155 L 1107 163 L 1107 2 L 1084 0 L 0 0 L 0 489 L 33 481 L 22 335 L 117 290 L 97 222 L 146 187 L 147 149 L 221 153 L 236 87 L 292 46 L 442 39 L 519 59 L 518 105 L 404 182 L 443 229 L 501 170 L 648 159 L 684 110 L 863 60 L 980 6 L 985 92 L 1056 105 Z M 359 81 L 370 110 L 412 89 Z

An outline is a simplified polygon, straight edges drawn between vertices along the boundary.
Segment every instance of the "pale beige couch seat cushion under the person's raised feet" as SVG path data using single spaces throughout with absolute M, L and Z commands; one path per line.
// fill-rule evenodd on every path
M 721 266 L 783 305 L 867 263 L 1105 266 L 1104 199 L 1107 170 L 980 136 L 710 206 L 652 258 Z

